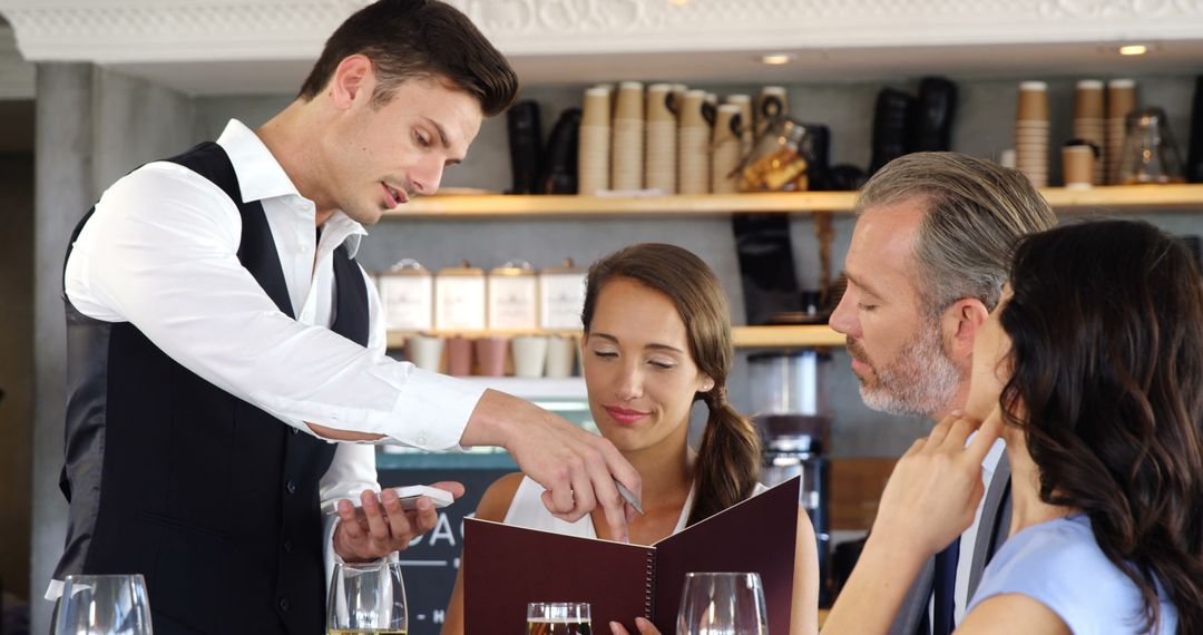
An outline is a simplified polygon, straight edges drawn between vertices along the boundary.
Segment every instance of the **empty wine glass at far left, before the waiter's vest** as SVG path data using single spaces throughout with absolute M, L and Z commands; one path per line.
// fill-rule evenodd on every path
M 134 575 L 69 575 L 55 635 L 153 635 L 147 582 Z

